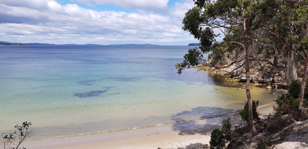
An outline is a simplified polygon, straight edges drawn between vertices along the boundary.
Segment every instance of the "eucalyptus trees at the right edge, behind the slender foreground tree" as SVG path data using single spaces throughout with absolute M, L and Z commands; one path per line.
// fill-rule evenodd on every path
M 297 63 L 303 63 L 304 75 L 299 95 L 302 109 L 306 79 L 308 74 L 308 0 L 258 0 L 255 7 L 254 28 L 266 32 L 269 43 L 260 43 L 254 33 L 254 40 L 272 47 L 275 52 L 274 68 L 286 72 L 286 81 L 290 83 L 297 76 Z M 264 38 L 264 35 L 261 37 Z M 282 64 L 278 64 L 278 55 Z M 296 56 L 297 55 L 297 56 Z M 296 59 L 297 57 L 297 59 Z

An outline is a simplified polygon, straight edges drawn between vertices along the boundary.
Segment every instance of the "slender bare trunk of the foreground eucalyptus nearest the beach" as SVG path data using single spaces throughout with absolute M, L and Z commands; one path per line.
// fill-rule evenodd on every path
M 247 37 L 244 37 L 244 46 L 245 46 L 245 65 L 246 65 L 246 95 L 248 100 L 248 124 L 252 136 L 257 135 L 257 130 L 253 124 L 253 112 L 252 112 L 252 100 L 250 95 L 250 73 L 249 73 L 249 57 L 248 57 L 248 43 Z

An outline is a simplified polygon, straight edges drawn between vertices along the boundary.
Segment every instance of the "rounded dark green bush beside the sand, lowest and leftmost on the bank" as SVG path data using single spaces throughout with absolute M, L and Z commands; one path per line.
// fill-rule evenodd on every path
M 210 149 L 224 149 L 225 144 L 223 132 L 219 128 L 214 129 L 211 133 Z

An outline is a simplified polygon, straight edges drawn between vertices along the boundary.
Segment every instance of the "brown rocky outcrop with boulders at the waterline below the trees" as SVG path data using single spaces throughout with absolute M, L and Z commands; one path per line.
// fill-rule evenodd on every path
M 243 58 L 243 55 L 237 57 L 237 59 Z M 242 65 L 242 67 L 236 69 L 237 67 L 241 66 L 241 63 L 234 63 L 235 61 L 236 59 L 231 58 L 228 53 L 225 53 L 221 59 L 215 62 L 209 59 L 204 64 L 202 64 L 202 67 L 208 65 L 208 67 L 204 67 L 203 69 L 228 75 L 229 78 L 232 78 L 229 79 L 229 81 L 246 82 L 245 65 Z M 285 73 L 283 71 L 276 71 L 271 69 L 271 66 L 265 62 L 250 61 L 249 80 L 253 84 L 259 84 L 257 86 L 264 86 L 266 88 L 275 89 L 275 87 L 272 86 L 278 85 L 278 89 L 287 89 L 287 85 L 284 85 L 286 84 Z

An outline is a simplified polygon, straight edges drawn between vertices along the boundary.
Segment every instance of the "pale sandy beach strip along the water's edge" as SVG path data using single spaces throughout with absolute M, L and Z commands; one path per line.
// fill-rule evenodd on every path
M 273 104 L 258 107 L 260 117 L 273 112 Z M 136 128 L 116 132 L 77 135 L 25 142 L 29 149 L 83 149 L 83 148 L 132 148 L 162 149 L 206 148 L 210 134 L 221 127 L 225 117 L 180 121 L 149 128 Z M 231 118 L 233 124 L 241 123 L 239 115 Z M 40 145 L 38 145 L 40 144 Z M 44 145 L 42 145 L 44 144 Z

